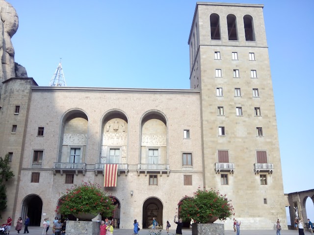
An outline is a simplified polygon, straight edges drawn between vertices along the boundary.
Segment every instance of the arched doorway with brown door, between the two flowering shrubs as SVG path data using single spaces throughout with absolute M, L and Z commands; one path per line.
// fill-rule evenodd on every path
M 153 218 L 155 217 L 160 229 L 162 229 L 162 213 L 163 205 L 157 197 L 146 199 L 143 204 L 143 228 L 150 228 L 153 223 Z

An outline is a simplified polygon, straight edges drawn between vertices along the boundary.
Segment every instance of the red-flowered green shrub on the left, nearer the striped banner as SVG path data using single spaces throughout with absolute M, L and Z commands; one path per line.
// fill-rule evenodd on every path
M 67 189 L 60 203 L 55 211 L 63 215 L 100 212 L 102 216 L 110 217 L 114 210 L 112 199 L 105 195 L 99 185 L 90 182 Z

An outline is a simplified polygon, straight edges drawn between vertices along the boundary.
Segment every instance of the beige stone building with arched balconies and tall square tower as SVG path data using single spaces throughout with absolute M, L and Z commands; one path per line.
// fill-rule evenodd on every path
M 66 188 L 104 185 L 105 164 L 118 164 L 117 186 L 104 190 L 120 228 L 134 219 L 147 228 L 153 217 L 165 227 L 198 187 L 227 194 L 243 229 L 273 229 L 277 218 L 287 227 L 262 8 L 196 3 L 187 90 L 5 80 L 0 153 L 11 153 L 17 174 L 4 217 L 39 225 Z

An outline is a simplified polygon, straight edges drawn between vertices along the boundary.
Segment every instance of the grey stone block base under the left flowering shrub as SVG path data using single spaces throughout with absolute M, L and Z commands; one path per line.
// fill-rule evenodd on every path
M 96 221 L 67 221 L 67 235 L 99 235 L 100 223 Z

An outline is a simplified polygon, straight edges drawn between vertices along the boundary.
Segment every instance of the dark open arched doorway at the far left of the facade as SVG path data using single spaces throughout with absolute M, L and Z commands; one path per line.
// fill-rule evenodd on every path
M 29 217 L 29 226 L 40 226 L 43 201 L 36 194 L 28 195 L 22 202 L 22 219 Z

